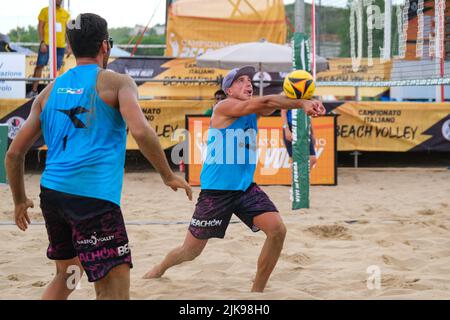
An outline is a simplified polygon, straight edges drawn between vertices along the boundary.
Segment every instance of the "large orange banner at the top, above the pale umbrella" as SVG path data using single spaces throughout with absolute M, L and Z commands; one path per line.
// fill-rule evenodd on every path
M 168 13 L 166 56 L 196 57 L 208 50 L 265 39 L 286 43 L 281 0 L 178 0 Z

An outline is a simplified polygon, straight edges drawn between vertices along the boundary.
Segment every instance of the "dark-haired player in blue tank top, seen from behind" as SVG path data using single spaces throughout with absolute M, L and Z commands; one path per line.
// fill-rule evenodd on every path
M 170 169 L 134 80 L 105 70 L 112 47 L 106 20 L 81 14 L 69 22 L 68 38 L 77 66 L 34 100 L 6 157 L 15 221 L 23 231 L 30 223 L 24 157 L 43 134 L 48 151 L 41 209 L 56 275 L 42 298 L 66 299 L 76 287 L 71 279 L 79 281 L 84 271 L 98 299 L 128 299 L 132 261 L 120 209 L 126 127 L 167 186 L 185 189 L 189 199 L 192 191 Z

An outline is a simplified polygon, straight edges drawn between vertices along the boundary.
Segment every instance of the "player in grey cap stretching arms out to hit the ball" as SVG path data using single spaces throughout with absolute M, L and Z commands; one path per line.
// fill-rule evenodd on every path
M 227 98 L 211 117 L 207 155 L 200 175 L 201 192 L 183 245 L 175 248 L 144 278 L 161 277 L 166 270 L 193 260 L 209 238 L 223 238 L 233 213 L 252 231 L 267 238 L 258 259 L 252 291 L 262 292 L 274 269 L 286 234 L 277 208 L 254 182 L 257 118 L 276 109 L 303 110 L 311 116 L 324 114 L 322 103 L 294 100 L 281 95 L 252 98 L 252 67 L 237 68 L 224 78 Z

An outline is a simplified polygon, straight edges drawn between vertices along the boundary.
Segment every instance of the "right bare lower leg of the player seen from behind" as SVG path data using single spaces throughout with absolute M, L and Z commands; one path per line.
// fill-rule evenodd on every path
M 120 264 L 95 282 L 97 300 L 130 299 L 130 265 Z

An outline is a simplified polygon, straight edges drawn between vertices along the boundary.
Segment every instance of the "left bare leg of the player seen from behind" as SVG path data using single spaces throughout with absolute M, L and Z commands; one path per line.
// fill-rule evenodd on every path
M 83 267 L 80 264 L 78 257 L 68 260 L 56 260 L 56 275 L 52 282 L 45 288 L 42 294 L 42 300 L 65 300 L 69 297 L 73 290 L 75 290 L 76 284 L 71 281 L 70 277 L 76 280 L 77 275 L 81 278 L 83 274 Z M 74 270 L 69 267 L 76 267 Z M 78 279 L 79 280 L 79 279 Z

